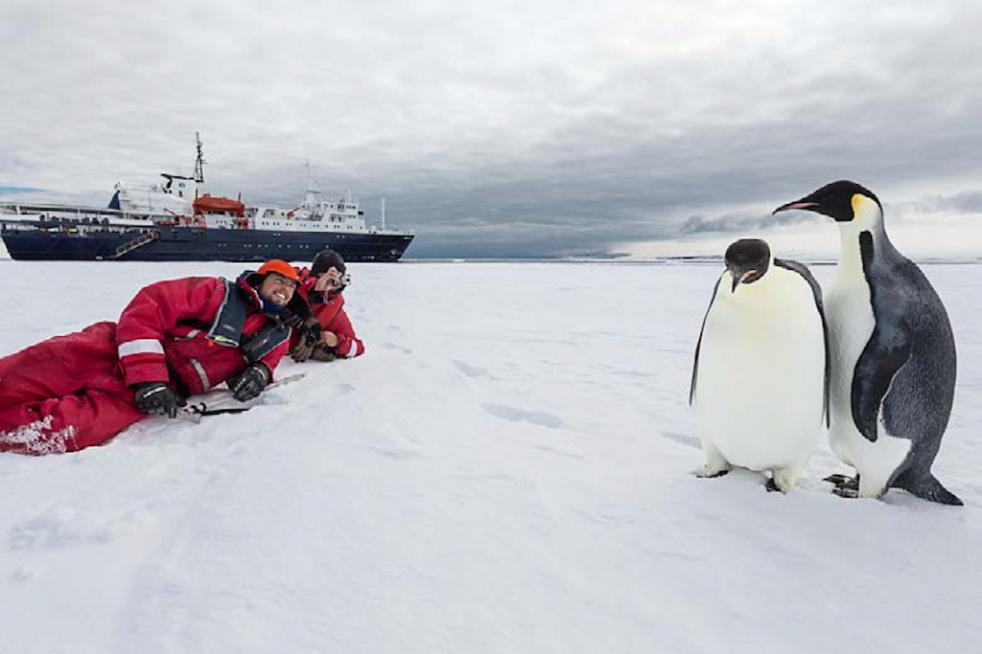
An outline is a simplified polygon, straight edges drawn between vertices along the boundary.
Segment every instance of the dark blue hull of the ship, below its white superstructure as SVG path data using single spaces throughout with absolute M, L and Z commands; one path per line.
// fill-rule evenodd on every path
M 412 234 L 277 232 L 154 225 L 3 223 L 3 241 L 20 261 L 310 261 L 325 248 L 347 261 L 398 261 Z M 140 242 L 142 240 L 142 242 Z

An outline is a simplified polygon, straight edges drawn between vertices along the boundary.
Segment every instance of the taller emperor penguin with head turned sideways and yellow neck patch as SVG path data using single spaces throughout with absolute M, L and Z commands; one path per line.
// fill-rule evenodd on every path
M 833 475 L 839 495 L 903 488 L 961 504 L 931 474 L 955 392 L 955 341 L 924 273 L 887 238 L 883 205 L 849 181 L 774 210 L 834 218 L 841 252 L 825 293 L 831 353 L 832 451 L 857 478 Z M 858 483 L 857 483 L 858 482 Z

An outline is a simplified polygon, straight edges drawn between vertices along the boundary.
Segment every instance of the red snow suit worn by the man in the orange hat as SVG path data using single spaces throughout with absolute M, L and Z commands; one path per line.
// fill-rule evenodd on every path
M 245 276 L 242 336 L 274 321 Z M 188 277 L 143 288 L 119 323 L 100 322 L 0 359 L 0 452 L 48 454 L 98 445 L 147 417 L 132 384 L 169 381 L 196 394 L 246 366 L 242 349 L 208 337 L 226 297 L 225 281 Z M 272 371 L 289 349 L 284 340 L 259 360 Z

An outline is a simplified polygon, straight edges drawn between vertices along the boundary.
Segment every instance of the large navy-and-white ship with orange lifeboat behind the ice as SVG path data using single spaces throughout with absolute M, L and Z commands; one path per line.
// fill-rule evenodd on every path
M 105 208 L 0 203 L 0 235 L 21 261 L 310 261 L 325 248 L 347 261 L 398 261 L 414 233 L 368 225 L 351 193 L 327 197 L 309 182 L 292 208 L 246 206 L 202 192 L 204 156 L 195 134 L 192 176 L 161 173 L 148 187 L 117 182 Z

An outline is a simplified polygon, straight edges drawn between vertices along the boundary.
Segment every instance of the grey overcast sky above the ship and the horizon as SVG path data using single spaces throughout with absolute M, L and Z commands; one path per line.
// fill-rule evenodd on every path
M 0 199 L 190 174 L 197 131 L 210 192 L 294 206 L 309 160 L 411 257 L 824 252 L 770 210 L 835 179 L 969 256 L 980 28 L 970 1 L 4 0 Z

